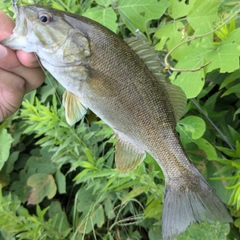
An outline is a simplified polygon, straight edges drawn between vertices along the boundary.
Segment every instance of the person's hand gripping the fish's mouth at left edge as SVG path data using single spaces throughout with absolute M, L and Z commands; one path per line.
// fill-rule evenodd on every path
M 12 34 L 14 22 L 0 11 L 0 42 Z M 33 53 L 0 44 L 0 122 L 15 113 L 26 93 L 39 87 L 44 73 Z

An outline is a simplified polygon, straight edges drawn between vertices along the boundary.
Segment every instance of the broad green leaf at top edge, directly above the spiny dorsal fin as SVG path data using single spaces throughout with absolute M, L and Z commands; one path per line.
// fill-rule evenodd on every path
M 167 0 L 119 0 L 118 2 L 119 13 L 124 23 L 134 32 L 136 29 L 145 32 L 147 22 L 159 19 L 168 6 Z

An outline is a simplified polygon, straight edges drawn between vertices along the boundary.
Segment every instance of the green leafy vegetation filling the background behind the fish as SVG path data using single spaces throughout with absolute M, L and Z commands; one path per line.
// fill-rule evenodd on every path
M 234 224 L 193 225 L 178 239 L 239 239 L 239 2 L 21 2 L 85 15 L 123 38 L 146 38 L 163 62 L 179 45 L 167 67 L 188 71 L 165 75 L 194 101 L 189 100 L 177 130 L 190 159 L 229 205 Z M 14 17 L 9 0 L 1 0 L 0 8 Z M 120 174 L 111 129 L 91 112 L 70 127 L 59 98 L 63 89 L 46 76 L 45 84 L 25 97 L 19 112 L 0 124 L 0 239 L 159 240 L 161 169 L 148 155 L 135 171 Z

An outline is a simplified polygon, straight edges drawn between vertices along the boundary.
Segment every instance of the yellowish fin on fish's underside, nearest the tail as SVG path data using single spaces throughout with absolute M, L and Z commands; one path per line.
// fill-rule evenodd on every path
M 145 158 L 145 151 L 134 144 L 123 140 L 118 135 L 116 142 L 115 162 L 118 170 L 122 173 L 134 170 Z

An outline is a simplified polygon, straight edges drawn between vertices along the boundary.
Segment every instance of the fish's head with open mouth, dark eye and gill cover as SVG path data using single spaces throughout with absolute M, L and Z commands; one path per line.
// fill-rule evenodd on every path
M 43 65 L 77 65 L 90 56 L 85 34 L 66 20 L 66 14 L 47 7 L 16 6 L 13 34 L 1 43 L 11 49 L 35 52 Z

